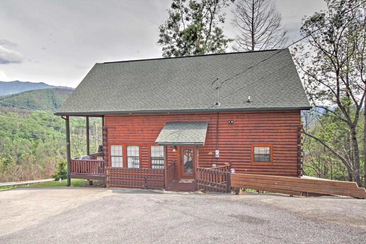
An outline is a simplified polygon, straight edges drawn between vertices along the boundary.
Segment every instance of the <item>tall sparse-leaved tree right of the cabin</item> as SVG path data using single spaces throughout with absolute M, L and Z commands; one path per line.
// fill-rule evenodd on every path
M 308 44 L 294 49 L 294 59 L 302 71 L 311 103 L 321 109 L 316 111 L 320 113 L 316 125 L 324 125 L 326 118 L 334 122 L 331 125 L 336 130 L 332 135 L 324 135 L 324 131 L 310 131 L 305 126 L 305 135 L 320 143 L 347 168 L 347 180 L 361 186 L 364 177 L 361 150 L 366 140 L 359 130 L 360 126 L 366 130 L 365 123 L 360 125 L 366 90 L 366 6 L 361 0 L 326 0 L 326 3 L 327 10 L 303 19 L 300 30 Z M 343 140 L 344 146 L 337 147 L 340 144 L 332 140 Z

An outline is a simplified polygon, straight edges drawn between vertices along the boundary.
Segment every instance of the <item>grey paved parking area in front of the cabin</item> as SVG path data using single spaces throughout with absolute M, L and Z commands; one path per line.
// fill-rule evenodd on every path
M 0 192 L 0 243 L 365 243 L 366 200 L 18 188 Z

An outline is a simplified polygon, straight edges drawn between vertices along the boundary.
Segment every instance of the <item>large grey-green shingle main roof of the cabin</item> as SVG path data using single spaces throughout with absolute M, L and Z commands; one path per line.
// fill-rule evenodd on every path
M 56 114 L 309 109 L 288 49 L 226 81 L 220 107 L 213 106 L 212 81 L 224 81 L 276 52 L 96 63 Z

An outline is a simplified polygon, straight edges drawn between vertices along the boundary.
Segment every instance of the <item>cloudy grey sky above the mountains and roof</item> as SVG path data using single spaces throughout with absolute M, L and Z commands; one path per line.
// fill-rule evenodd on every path
M 276 0 L 289 40 L 322 0 Z M 76 87 L 95 63 L 160 58 L 170 0 L 0 0 L 0 81 Z M 235 37 L 225 12 L 224 34 Z M 231 51 L 228 49 L 228 51 Z

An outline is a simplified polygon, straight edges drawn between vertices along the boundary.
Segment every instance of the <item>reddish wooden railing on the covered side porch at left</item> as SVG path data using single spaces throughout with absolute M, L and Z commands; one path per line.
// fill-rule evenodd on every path
M 104 168 L 104 160 L 71 159 L 69 173 L 104 175 Z

